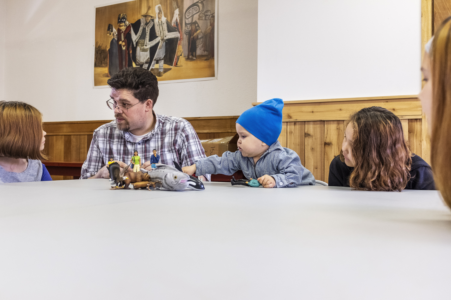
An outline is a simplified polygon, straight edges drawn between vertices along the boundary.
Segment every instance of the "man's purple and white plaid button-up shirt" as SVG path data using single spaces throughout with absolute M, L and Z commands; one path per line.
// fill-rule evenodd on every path
M 101 125 L 94 130 L 87 159 L 83 163 L 80 179 L 87 179 L 105 166 L 110 157 L 129 163 L 133 152 L 138 151 L 141 162 L 149 161 L 156 149 L 162 164 L 174 166 L 191 166 L 195 161 L 206 157 L 202 144 L 191 123 L 182 118 L 158 115 L 155 128 L 139 142 L 128 131 L 117 128 L 116 121 Z M 206 174 L 208 180 L 210 175 Z

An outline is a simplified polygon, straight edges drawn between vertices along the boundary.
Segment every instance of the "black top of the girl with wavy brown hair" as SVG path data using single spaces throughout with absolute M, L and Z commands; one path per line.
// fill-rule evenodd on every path
M 405 189 L 435 190 L 431 166 L 418 155 L 414 153 L 412 155 L 410 180 Z M 329 186 L 349 187 L 349 176 L 353 170 L 354 167 L 348 167 L 340 160 L 340 155 L 336 156 L 329 166 Z

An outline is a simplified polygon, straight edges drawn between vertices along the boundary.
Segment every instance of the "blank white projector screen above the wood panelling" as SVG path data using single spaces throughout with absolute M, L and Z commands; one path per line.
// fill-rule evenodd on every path
M 418 94 L 420 48 L 420 0 L 259 0 L 257 99 Z

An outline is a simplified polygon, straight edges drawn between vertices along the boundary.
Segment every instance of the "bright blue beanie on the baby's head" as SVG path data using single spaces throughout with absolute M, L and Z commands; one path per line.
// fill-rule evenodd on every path
M 243 112 L 236 123 L 270 146 L 282 131 L 282 108 L 282 99 L 267 100 Z

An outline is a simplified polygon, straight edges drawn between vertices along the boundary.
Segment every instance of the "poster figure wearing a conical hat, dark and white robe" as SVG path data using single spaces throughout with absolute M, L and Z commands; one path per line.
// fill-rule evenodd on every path
M 141 15 L 138 21 L 132 24 L 130 36 L 132 40 L 132 60 L 136 67 L 149 70 L 160 38 L 155 31 L 155 13 L 149 6 L 147 12 Z

